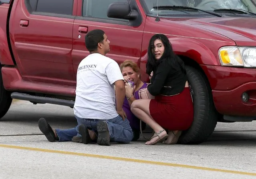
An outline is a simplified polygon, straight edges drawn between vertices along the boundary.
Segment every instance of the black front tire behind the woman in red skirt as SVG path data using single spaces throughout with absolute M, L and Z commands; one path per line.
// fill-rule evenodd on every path
M 185 69 L 194 103 L 194 121 L 188 130 L 182 132 L 178 143 L 200 144 L 214 131 L 218 115 L 206 77 L 194 67 L 185 66 Z

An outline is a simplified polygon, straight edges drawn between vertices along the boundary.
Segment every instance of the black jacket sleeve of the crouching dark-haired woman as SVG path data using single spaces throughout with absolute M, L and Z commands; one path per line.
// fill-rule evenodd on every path
M 160 63 L 157 67 L 155 74 L 153 74 L 154 80 L 152 84 L 147 86 L 147 90 L 153 96 L 160 94 L 161 89 L 165 83 L 165 80 L 170 72 L 170 66 L 166 65 L 166 63 Z

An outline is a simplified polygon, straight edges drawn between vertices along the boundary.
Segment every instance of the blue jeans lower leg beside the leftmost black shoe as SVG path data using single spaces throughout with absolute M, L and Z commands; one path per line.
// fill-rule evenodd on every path
M 75 128 L 66 129 L 66 130 L 55 129 L 56 134 L 59 138 L 58 142 L 71 141 L 74 136 L 81 137 L 81 134 L 77 132 L 77 128 L 78 126 Z

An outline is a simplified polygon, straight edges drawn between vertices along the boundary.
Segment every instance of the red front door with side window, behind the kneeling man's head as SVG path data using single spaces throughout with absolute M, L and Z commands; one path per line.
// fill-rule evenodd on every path
M 105 31 L 110 41 L 110 52 L 107 57 L 114 59 L 118 64 L 132 60 L 139 65 L 145 23 L 143 17 L 140 14 L 141 22 L 138 26 L 132 26 L 129 20 L 108 18 L 107 8 L 113 2 L 127 2 L 127 0 L 78 0 L 72 52 L 75 75 L 81 60 L 89 55 L 85 47 L 85 35 L 95 29 Z

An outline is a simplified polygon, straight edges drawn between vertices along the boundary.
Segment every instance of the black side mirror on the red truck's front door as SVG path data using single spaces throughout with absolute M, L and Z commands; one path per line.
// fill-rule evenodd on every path
M 109 18 L 135 20 L 138 13 L 135 10 L 131 10 L 131 6 L 127 2 L 115 2 L 109 4 L 107 16 Z

